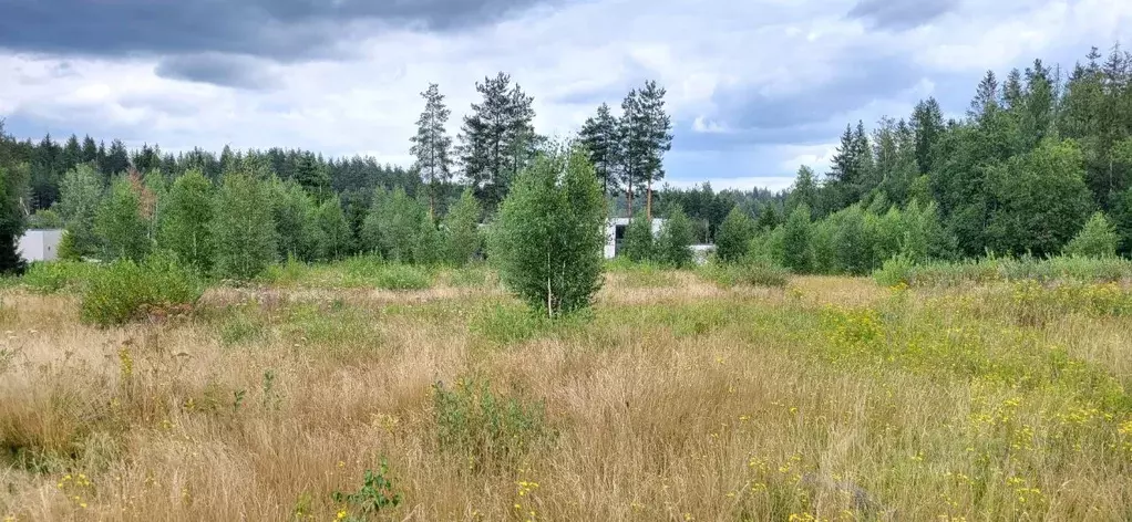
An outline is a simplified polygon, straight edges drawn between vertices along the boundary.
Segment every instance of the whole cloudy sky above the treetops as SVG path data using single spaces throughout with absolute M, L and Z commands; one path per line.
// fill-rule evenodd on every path
M 408 166 L 430 82 L 453 136 L 506 71 L 535 129 L 567 137 L 655 79 L 667 182 L 779 190 L 825 172 L 846 123 L 928 96 L 959 116 L 988 69 L 1130 40 L 1127 0 L 0 0 L 0 118 L 20 138 Z

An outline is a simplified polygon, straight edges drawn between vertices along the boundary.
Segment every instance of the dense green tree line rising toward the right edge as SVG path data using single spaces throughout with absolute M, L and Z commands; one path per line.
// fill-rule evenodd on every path
M 720 256 L 867 273 L 894 255 L 1127 255 L 1132 53 L 987 71 L 962 118 L 928 98 L 872 131 L 847 125 L 829 172 L 799 168 L 780 202 L 724 219 Z

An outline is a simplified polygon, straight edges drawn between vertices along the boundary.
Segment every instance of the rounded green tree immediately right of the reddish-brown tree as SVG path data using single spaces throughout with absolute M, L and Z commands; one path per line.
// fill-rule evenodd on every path
M 208 273 L 213 264 L 213 185 L 192 169 L 173 182 L 165 200 L 157 245 L 185 264 Z

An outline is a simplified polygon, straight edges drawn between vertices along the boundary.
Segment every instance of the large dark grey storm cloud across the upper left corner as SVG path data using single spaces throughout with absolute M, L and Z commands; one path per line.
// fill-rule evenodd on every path
M 0 49 L 82 55 L 325 52 L 348 23 L 457 31 L 542 0 L 0 0 Z

